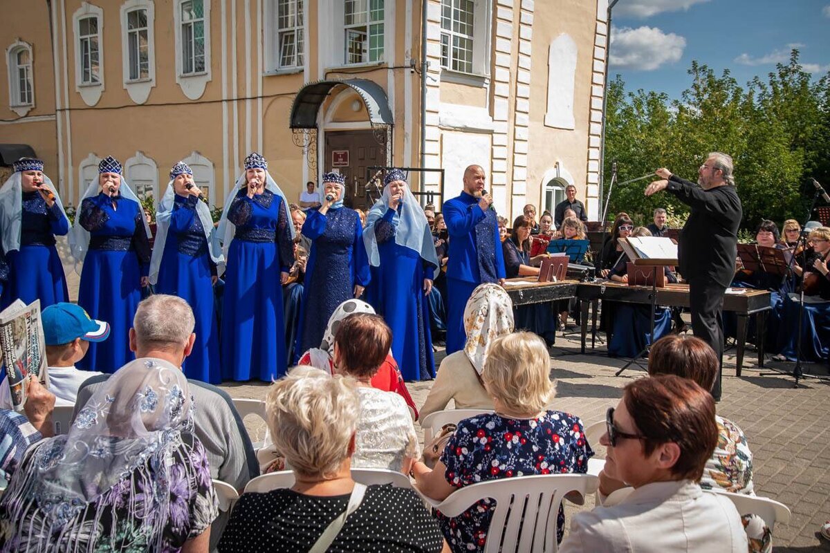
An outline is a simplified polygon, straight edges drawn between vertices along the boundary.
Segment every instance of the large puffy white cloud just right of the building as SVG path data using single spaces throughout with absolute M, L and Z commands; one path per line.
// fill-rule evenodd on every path
M 688 1 L 688 0 L 684 0 Z M 611 31 L 611 65 L 615 69 L 652 71 L 680 61 L 686 39 L 657 27 L 623 27 Z

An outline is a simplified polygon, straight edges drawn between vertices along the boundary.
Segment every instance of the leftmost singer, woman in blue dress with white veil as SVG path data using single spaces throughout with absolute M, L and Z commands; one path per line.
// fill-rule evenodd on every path
M 0 308 L 18 298 L 27 304 L 39 299 L 42 311 L 69 298 L 55 248 L 55 236 L 69 232 L 69 219 L 40 159 L 22 158 L 13 167 L 0 188 L 2 251 L 8 264 Z

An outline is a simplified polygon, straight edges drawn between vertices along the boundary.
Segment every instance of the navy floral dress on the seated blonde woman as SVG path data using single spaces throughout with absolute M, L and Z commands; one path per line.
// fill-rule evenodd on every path
M 537 419 L 507 419 L 496 413 L 462 420 L 441 455 L 445 478 L 456 488 L 535 474 L 586 473 L 593 449 L 579 417 L 545 411 Z M 452 551 L 484 551 L 496 502 L 483 499 L 458 517 L 438 512 L 438 522 Z M 562 540 L 564 512 L 559 507 L 557 541 Z

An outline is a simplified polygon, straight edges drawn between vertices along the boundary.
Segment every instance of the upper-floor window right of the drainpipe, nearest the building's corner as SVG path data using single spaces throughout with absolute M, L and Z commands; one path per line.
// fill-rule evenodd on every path
M 441 66 L 472 73 L 473 0 L 441 0 Z

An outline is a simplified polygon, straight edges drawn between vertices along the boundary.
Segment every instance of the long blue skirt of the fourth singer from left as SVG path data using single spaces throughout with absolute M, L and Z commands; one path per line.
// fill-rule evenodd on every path
M 232 241 L 222 303 L 222 379 L 270 382 L 286 374 L 276 244 Z

